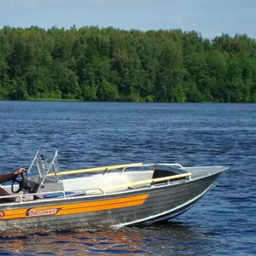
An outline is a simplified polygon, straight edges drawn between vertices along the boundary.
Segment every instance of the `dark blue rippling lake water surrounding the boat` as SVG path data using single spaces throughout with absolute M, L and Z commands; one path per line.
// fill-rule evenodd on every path
M 0 172 L 40 146 L 62 170 L 143 161 L 226 165 L 176 222 L 121 230 L 0 233 L 0 255 L 256 254 L 256 105 L 0 102 Z

